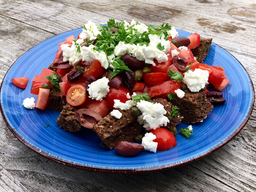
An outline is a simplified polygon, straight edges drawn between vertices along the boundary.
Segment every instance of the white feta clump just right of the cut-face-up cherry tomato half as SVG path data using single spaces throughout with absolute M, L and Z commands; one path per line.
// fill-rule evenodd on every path
M 88 85 L 89 98 L 102 101 L 102 98 L 109 92 L 108 82 L 109 80 L 103 77 Z

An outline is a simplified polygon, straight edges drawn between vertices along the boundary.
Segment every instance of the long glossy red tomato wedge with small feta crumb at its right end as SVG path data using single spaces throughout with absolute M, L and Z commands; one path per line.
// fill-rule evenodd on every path
M 170 80 L 159 83 L 151 88 L 149 88 L 149 97 L 156 97 L 159 95 L 165 95 L 167 93 L 174 93 L 176 89 L 180 89 L 179 81 Z

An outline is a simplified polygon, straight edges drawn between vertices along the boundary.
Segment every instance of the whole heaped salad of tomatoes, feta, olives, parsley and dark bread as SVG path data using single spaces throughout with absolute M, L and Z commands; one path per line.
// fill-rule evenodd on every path
M 61 111 L 60 128 L 93 129 L 102 146 L 124 156 L 169 150 L 177 145 L 176 125 L 202 122 L 226 101 L 224 69 L 203 63 L 211 42 L 197 33 L 179 37 L 169 24 L 89 21 L 77 39 L 59 43 L 54 62 L 33 79 L 37 103 L 32 97 L 23 105 Z M 12 79 L 20 88 L 28 81 Z M 220 92 L 209 92 L 209 84 Z M 192 132 L 191 125 L 179 130 L 187 138 Z

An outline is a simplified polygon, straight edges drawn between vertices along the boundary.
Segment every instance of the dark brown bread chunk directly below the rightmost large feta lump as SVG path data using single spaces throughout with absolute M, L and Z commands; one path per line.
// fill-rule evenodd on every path
M 180 99 L 176 98 L 172 104 L 180 108 L 180 113 L 184 117 L 183 123 L 196 123 L 204 120 L 212 111 L 213 105 L 206 99 L 204 93 L 185 93 Z

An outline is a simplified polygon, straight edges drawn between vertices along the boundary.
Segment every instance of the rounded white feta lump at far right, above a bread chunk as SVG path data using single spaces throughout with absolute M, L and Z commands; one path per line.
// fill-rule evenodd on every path
M 189 70 L 185 73 L 183 82 L 187 85 L 190 91 L 198 92 L 208 84 L 209 72 L 206 70 L 195 69 L 194 72 Z

